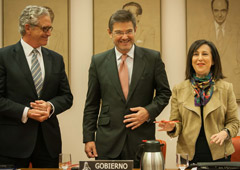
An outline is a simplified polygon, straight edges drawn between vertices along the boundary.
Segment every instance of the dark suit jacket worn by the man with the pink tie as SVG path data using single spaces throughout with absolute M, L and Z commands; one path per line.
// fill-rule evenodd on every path
M 96 140 L 97 152 L 101 157 L 119 156 L 126 139 L 136 152 L 137 145 L 143 139 L 155 139 L 153 121 L 168 104 L 170 96 L 165 66 L 159 52 L 135 47 L 127 100 L 121 89 L 114 49 L 93 56 L 84 109 L 83 142 Z M 138 106 L 148 110 L 151 121 L 135 130 L 126 128 L 124 115 L 130 114 L 130 108 Z

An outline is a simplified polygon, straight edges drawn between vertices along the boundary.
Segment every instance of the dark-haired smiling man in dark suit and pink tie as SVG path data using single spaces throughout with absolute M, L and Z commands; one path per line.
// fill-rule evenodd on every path
M 114 13 L 108 32 L 115 48 L 94 55 L 89 68 L 85 152 L 89 158 L 134 160 L 137 168 L 137 146 L 143 139 L 155 139 L 153 122 L 171 91 L 160 53 L 134 45 L 136 20 L 131 12 Z

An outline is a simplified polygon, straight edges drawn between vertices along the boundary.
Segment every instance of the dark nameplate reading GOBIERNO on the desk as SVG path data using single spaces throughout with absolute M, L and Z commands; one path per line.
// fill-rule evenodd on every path
M 133 160 L 79 161 L 79 170 L 132 170 Z

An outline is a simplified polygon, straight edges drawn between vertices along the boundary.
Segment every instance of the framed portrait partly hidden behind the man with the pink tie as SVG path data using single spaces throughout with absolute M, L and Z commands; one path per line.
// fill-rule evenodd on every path
M 94 54 L 114 47 L 107 32 L 108 21 L 120 9 L 129 10 L 136 17 L 135 44 L 160 51 L 160 0 L 93 0 Z

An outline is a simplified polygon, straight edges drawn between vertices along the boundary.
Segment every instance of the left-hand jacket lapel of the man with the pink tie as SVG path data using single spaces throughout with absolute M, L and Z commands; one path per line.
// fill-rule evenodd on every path
M 120 84 L 119 76 L 118 76 L 118 68 L 117 68 L 117 62 L 116 62 L 116 54 L 114 51 L 114 48 L 110 50 L 110 52 L 107 54 L 107 70 L 109 78 L 112 82 L 112 85 L 115 87 L 117 93 L 121 98 L 126 101 L 124 94 L 122 92 L 122 87 Z

